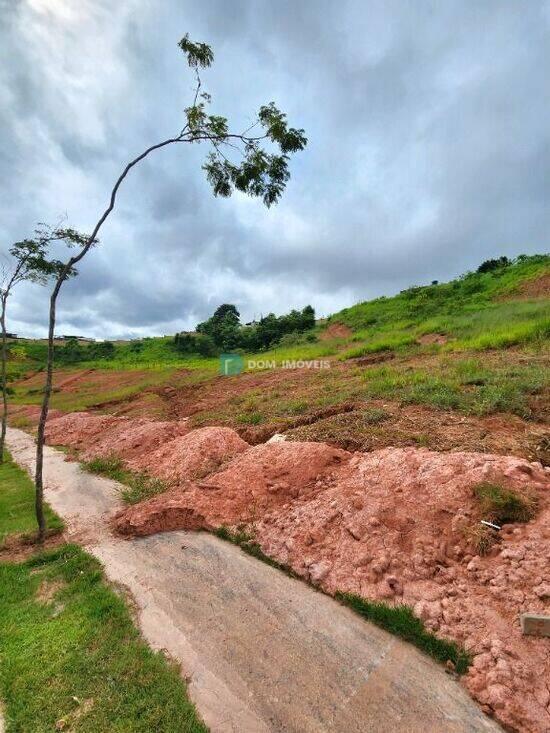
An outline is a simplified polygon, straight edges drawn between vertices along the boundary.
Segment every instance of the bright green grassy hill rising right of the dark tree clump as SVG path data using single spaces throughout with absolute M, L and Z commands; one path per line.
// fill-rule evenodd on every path
M 537 343 L 550 335 L 550 256 L 521 256 L 489 272 L 471 272 L 448 283 L 412 287 L 392 298 L 359 303 L 334 314 L 329 323 L 353 329 L 366 353 L 406 347 L 427 334 L 440 334 L 448 349 L 480 350 Z M 541 288 L 544 290 L 544 287 Z

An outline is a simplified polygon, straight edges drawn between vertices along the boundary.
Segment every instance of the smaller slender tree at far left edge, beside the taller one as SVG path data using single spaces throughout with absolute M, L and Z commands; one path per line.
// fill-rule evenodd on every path
M 0 355 L 0 385 L 2 391 L 2 427 L 0 429 L 0 463 L 4 461 L 6 429 L 8 425 L 8 338 L 6 316 L 8 301 L 19 283 L 30 281 L 44 285 L 46 280 L 59 274 L 60 263 L 48 260 L 48 242 L 39 239 L 23 239 L 9 248 L 0 268 L 0 329 L 2 347 Z

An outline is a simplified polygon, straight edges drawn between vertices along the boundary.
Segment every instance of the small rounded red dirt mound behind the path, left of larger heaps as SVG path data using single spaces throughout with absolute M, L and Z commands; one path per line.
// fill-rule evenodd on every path
M 131 468 L 147 470 L 174 483 L 201 479 L 250 446 L 231 428 L 199 428 L 164 443 L 153 453 L 141 453 Z

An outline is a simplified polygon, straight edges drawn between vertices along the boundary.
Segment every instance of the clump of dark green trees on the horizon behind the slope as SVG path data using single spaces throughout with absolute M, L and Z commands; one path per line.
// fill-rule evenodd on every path
M 236 306 L 224 303 L 206 321 L 199 323 L 196 333 L 178 333 L 174 344 L 182 353 L 215 356 L 220 351 L 262 351 L 279 343 L 285 336 L 310 331 L 315 326 L 315 311 L 306 305 L 301 311 L 291 310 L 283 316 L 269 313 L 259 321 L 241 324 Z

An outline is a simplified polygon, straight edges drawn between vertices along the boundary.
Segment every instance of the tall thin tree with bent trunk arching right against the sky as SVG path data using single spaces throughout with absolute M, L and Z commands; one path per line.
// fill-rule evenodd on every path
M 230 129 L 226 117 L 210 114 L 208 105 L 211 103 L 211 97 L 202 89 L 200 70 L 212 65 L 214 60 L 212 49 L 206 43 L 191 41 L 187 34 L 178 45 L 195 75 L 193 98 L 191 105 L 184 110 L 183 127 L 173 137 L 151 145 L 126 165 L 111 190 L 107 208 L 89 236 L 82 238 L 81 241 L 78 240 L 78 237 L 74 240 L 71 240 L 70 237 L 68 240 L 65 239 L 66 242 L 77 245 L 77 251 L 67 260 L 65 267 L 60 271 L 50 298 L 46 384 L 36 448 L 35 482 L 40 541 L 43 541 L 45 536 L 42 511 L 42 469 L 44 433 L 52 391 L 57 297 L 72 268 L 96 244 L 101 227 L 115 208 L 119 188 L 126 176 L 132 168 L 156 150 L 184 143 L 191 145 L 203 143 L 208 146 L 203 170 L 215 196 L 231 196 L 234 190 L 238 190 L 260 198 L 269 207 L 279 200 L 290 178 L 290 156 L 303 150 L 307 143 L 304 131 L 290 127 L 286 115 L 276 107 L 274 102 L 260 107 L 254 123 L 242 132 Z M 60 235 L 60 238 L 64 239 L 63 232 L 60 232 Z

